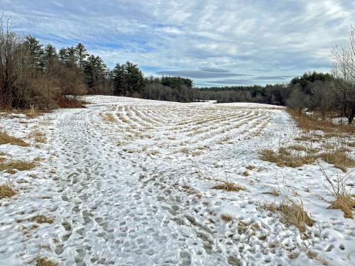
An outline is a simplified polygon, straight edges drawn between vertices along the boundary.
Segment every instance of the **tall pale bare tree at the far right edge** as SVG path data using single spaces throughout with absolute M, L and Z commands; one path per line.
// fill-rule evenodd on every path
M 333 88 L 342 111 L 351 123 L 355 116 L 355 26 L 351 26 L 349 43 L 336 45 L 332 50 L 334 75 Z

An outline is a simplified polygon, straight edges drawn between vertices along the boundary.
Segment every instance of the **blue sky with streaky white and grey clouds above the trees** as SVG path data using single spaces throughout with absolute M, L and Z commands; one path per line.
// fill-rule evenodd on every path
M 329 72 L 330 49 L 355 23 L 352 0 L 0 0 L 0 11 L 43 43 L 82 42 L 109 67 L 130 60 L 197 87 Z

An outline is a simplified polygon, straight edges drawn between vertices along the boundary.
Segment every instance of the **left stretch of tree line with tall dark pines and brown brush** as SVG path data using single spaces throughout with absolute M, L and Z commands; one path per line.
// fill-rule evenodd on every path
M 144 77 L 132 62 L 109 69 L 82 43 L 60 48 L 11 30 L 0 18 L 0 109 L 54 109 L 80 106 L 83 94 L 133 96 L 165 101 L 195 101 L 192 80 Z

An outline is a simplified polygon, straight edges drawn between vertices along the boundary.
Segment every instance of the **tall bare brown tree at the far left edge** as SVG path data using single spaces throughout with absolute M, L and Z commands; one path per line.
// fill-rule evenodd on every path
M 16 60 L 18 35 L 11 31 L 11 17 L 0 18 L 0 108 L 11 109 L 11 92 L 18 78 L 20 66 Z

